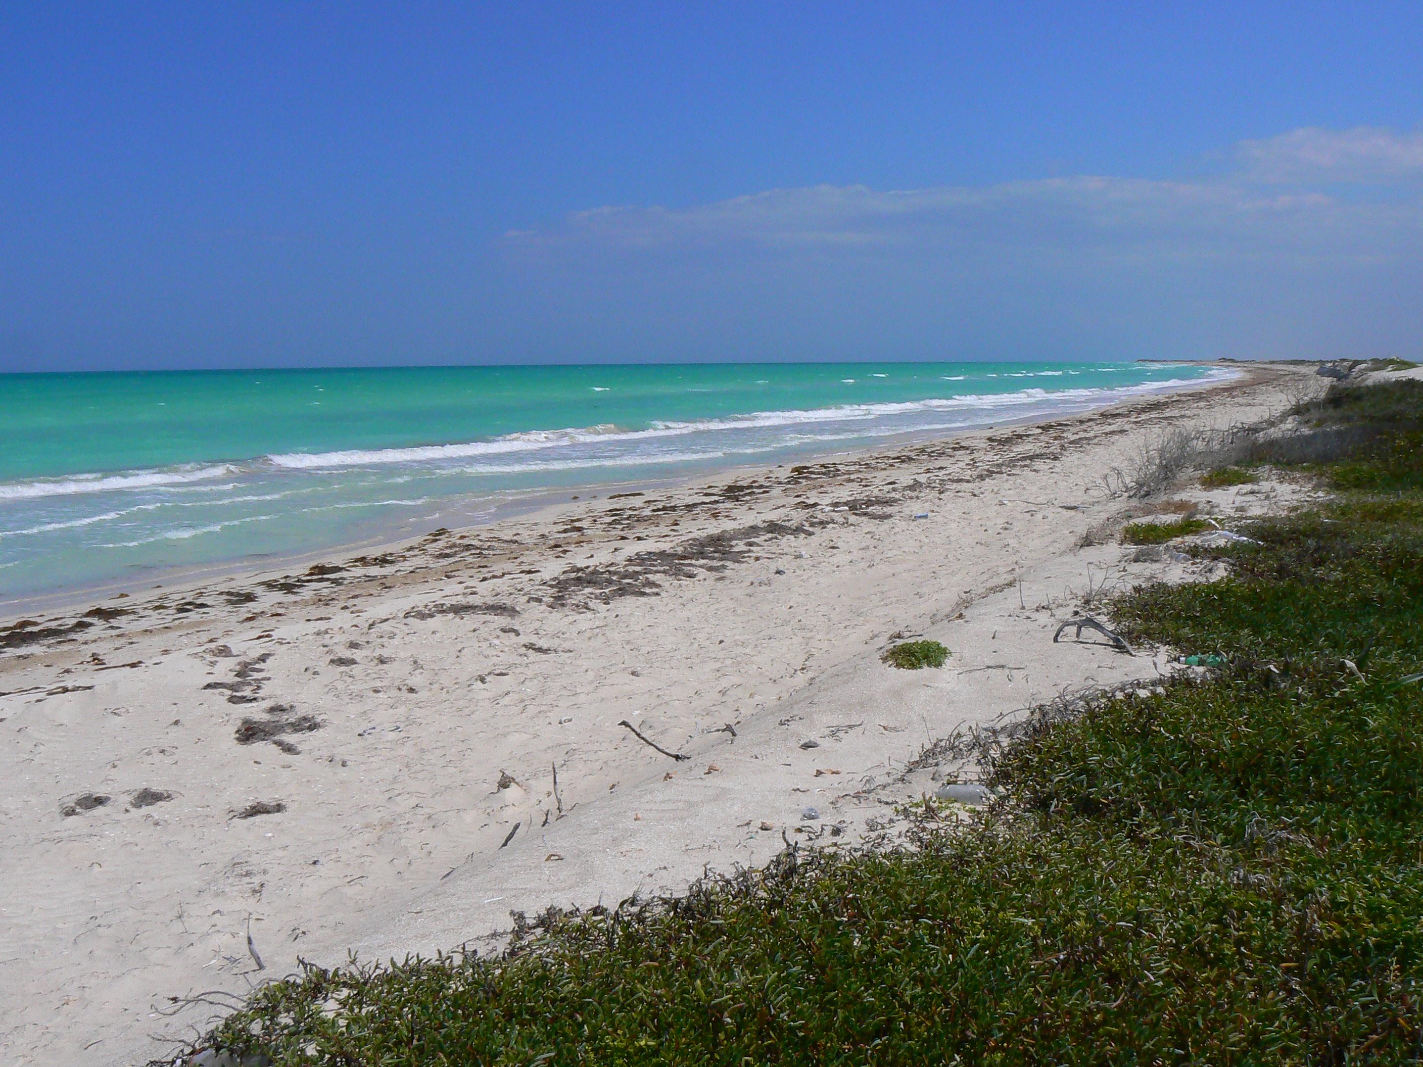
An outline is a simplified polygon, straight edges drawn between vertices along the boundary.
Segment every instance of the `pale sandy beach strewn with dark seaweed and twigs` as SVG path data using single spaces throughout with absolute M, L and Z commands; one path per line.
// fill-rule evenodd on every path
M 171 997 L 892 828 L 933 740 L 1171 670 L 1052 636 L 1103 588 L 1198 566 L 1084 535 L 1165 430 L 1313 381 L 1239 370 L 0 622 L 0 1060 L 144 1063 L 216 1010 Z M 894 670 L 895 635 L 951 659 Z

